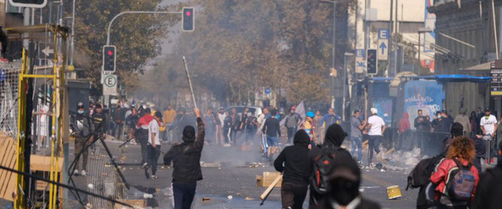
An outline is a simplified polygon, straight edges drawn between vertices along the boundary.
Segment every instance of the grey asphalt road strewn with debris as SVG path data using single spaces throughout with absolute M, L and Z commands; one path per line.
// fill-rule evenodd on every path
M 119 157 L 124 155 L 125 159 L 120 160 L 123 164 L 138 164 L 139 146 L 128 145 L 121 150 L 119 141 L 107 141 L 112 153 Z M 162 152 L 167 152 L 169 146 L 162 145 Z M 70 146 L 73 158 L 73 144 Z M 273 167 L 264 164 L 262 167 L 250 168 L 246 162 L 259 162 L 261 156 L 258 148 L 242 150 L 240 148 L 222 148 L 220 146 L 204 147 L 201 160 L 203 162 L 220 162 L 222 167 L 204 167 L 202 173 L 204 180 L 197 185 L 197 196 L 194 208 L 280 208 L 280 189 L 274 189 L 264 206 L 259 206 L 259 196 L 265 188 L 257 187 L 255 177 L 264 171 L 274 171 Z M 72 159 L 73 160 L 73 159 Z M 119 161 L 119 160 L 118 160 Z M 162 157 L 159 160 L 162 163 Z M 123 172 L 126 180 L 133 187 L 139 189 L 154 188 L 154 198 L 149 200 L 149 206 L 153 208 L 172 208 L 172 201 L 166 196 L 166 188 L 170 187 L 172 180 L 172 169 L 160 167 L 159 178 L 156 180 L 146 179 L 144 171 L 137 165 L 125 165 Z M 418 191 L 404 191 L 406 187 L 406 176 L 408 171 L 378 171 L 376 169 L 363 169 L 363 184 L 360 190 L 367 199 L 372 199 L 381 204 L 382 208 L 414 208 Z M 86 189 L 86 177 L 75 177 L 77 187 Z M 399 185 L 403 197 L 397 200 L 387 200 L 386 187 Z M 152 189 L 153 190 L 153 189 Z M 227 196 L 232 196 L 229 200 Z M 209 201 L 202 201 L 203 197 L 208 197 Z M 246 200 L 246 198 L 248 200 Z M 74 199 L 70 197 L 70 199 Z M 249 200 L 250 199 L 250 200 Z M 67 201 L 65 208 L 82 208 L 76 206 L 74 200 Z M 305 201 L 307 203 L 307 201 Z M 0 201 L 0 208 L 5 206 L 5 202 Z M 305 207 L 307 205 L 305 204 Z

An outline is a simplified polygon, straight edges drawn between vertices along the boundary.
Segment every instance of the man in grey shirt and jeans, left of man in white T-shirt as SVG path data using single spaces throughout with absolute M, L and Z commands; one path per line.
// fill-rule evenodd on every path
M 351 155 L 353 157 L 356 153 L 356 148 L 358 149 L 358 164 L 363 164 L 363 130 L 366 125 L 366 121 L 361 121 L 360 111 L 357 109 L 354 111 L 351 118 L 351 141 L 352 150 Z

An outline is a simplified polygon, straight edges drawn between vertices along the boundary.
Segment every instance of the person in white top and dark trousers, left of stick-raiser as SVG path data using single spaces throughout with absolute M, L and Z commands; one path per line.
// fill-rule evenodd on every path
M 156 111 L 153 115 L 154 120 L 149 123 L 149 141 L 148 141 L 148 166 L 145 167 L 146 178 L 157 179 L 157 162 L 160 156 L 160 126 L 162 125 L 162 114 Z M 151 169 L 152 176 L 148 170 Z

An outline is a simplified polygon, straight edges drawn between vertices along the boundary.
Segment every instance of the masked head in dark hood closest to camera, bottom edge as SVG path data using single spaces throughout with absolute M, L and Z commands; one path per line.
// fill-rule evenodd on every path
M 341 155 L 328 172 L 328 192 L 316 209 L 378 209 L 377 203 L 364 199 L 359 193 L 361 172 L 350 156 Z

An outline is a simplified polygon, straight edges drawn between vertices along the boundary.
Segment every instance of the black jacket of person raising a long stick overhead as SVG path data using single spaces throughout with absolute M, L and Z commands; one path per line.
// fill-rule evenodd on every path
M 195 141 L 184 141 L 182 144 L 172 146 L 164 155 L 164 164 L 174 163 L 173 182 L 196 183 L 202 180 L 200 157 L 204 148 L 204 123 L 197 118 L 197 137 Z

